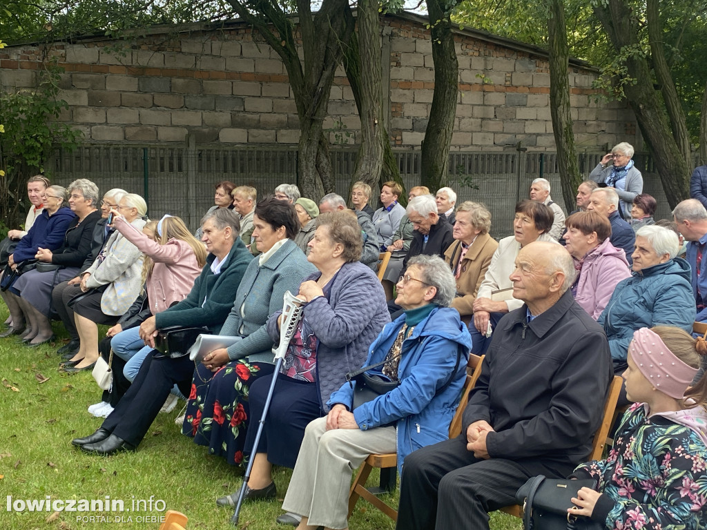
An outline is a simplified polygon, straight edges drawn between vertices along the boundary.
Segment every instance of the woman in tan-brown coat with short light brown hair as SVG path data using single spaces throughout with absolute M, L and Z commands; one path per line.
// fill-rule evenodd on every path
M 498 242 L 489 235 L 489 230 L 491 212 L 486 206 L 466 201 L 457 208 L 452 232 L 455 242 L 446 250 L 444 258 L 457 280 L 457 295 L 452 300 L 452 307 L 465 324 L 471 322 L 474 300 L 493 252 L 498 248 Z

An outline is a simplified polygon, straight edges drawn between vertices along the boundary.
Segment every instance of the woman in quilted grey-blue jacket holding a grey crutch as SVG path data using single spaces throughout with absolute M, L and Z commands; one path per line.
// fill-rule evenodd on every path
M 362 365 L 368 346 L 390 322 L 378 277 L 358 261 L 363 238 L 354 212 L 319 216 L 309 247 L 307 259 L 318 270 L 299 286 L 304 316 L 277 376 L 257 447 L 253 447 L 257 424 L 252 423 L 255 428 L 247 431 L 245 452 L 255 457 L 246 498 L 275 497 L 272 466 L 295 466 L 305 427 L 327 414 L 329 396 L 341 387 L 347 372 Z M 280 340 L 280 316 L 281 312 L 275 312 L 267 324 L 275 343 Z M 262 377 L 251 385 L 252 418 L 262 415 L 270 383 L 271 377 Z M 240 488 L 221 497 L 218 504 L 232 505 L 239 492 Z

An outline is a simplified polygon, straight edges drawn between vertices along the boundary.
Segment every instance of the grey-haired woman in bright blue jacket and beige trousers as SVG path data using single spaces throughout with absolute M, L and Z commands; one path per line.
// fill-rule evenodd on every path
M 329 397 L 325 418 L 307 426 L 283 504 L 301 514 L 299 529 L 348 526 L 351 470 L 370 453 L 397 452 L 400 469 L 415 449 L 446 440 L 464 382 L 471 337 L 449 306 L 455 279 L 437 256 L 416 256 L 397 283 L 405 310 L 370 346 L 368 373 L 399 386 L 351 410 L 354 388 Z

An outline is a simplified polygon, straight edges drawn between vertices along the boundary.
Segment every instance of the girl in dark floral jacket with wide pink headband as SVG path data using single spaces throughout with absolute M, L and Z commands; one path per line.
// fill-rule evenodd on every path
M 641 328 L 629 345 L 626 411 L 609 458 L 581 464 L 595 478 L 568 512 L 607 529 L 697 530 L 707 521 L 707 377 L 693 387 L 703 338 L 675 327 Z

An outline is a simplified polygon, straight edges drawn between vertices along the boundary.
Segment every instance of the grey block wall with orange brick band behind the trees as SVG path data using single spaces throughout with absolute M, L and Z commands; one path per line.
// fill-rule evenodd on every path
M 452 150 L 501 151 L 523 146 L 554 150 L 549 71 L 539 50 L 470 30 L 456 35 L 460 64 Z M 0 50 L 0 90 L 31 88 L 46 50 Z M 429 31 L 417 16 L 382 18 L 382 73 L 388 85 L 387 129 L 399 148 L 419 148 L 434 88 Z M 129 44 L 90 38 L 49 49 L 64 68 L 60 119 L 90 143 L 286 144 L 299 139 L 295 102 L 284 65 L 241 23 L 218 32 L 159 33 Z M 596 102 L 596 72 L 571 66 L 578 148 L 636 142 L 633 114 Z M 354 144 L 360 123 L 339 67 L 325 129 L 334 144 Z

